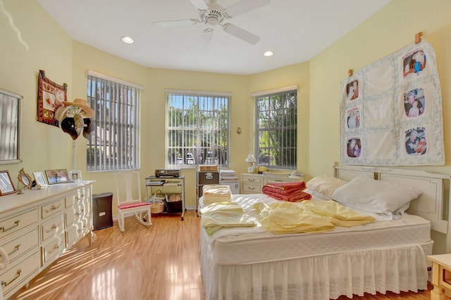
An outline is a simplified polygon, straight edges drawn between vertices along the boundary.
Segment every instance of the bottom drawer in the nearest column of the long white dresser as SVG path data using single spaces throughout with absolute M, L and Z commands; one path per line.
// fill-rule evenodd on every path
M 25 280 L 30 280 L 29 277 L 35 273 L 41 266 L 41 258 L 39 258 L 39 251 L 33 252 L 29 257 L 23 261 L 12 263 L 4 273 L 0 273 L 1 285 L 3 287 L 3 294 L 7 294 L 11 289 L 18 285 L 25 285 Z

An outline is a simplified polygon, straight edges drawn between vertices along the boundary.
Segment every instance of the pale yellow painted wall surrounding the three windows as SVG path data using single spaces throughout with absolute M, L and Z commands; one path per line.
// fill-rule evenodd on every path
M 68 83 L 68 99 L 86 97 L 87 70 L 94 70 L 143 85 L 141 109 L 141 173 L 152 175 L 163 168 L 164 89 L 194 89 L 232 92 L 230 146 L 231 168 L 245 173 L 245 158 L 252 147 L 253 104 L 250 93 L 297 85 L 297 169 L 309 177 L 331 174 L 340 160 L 340 82 L 347 70 L 359 70 L 414 40 L 416 32 L 432 44 L 438 60 L 443 92 L 445 153 L 450 157 L 451 11 L 449 0 L 394 0 L 338 42 L 306 63 L 254 75 L 226 75 L 181 70 L 144 68 L 104 51 L 73 41 L 35 0 L 0 0 L 0 88 L 23 94 L 23 163 L 1 165 L 16 178 L 25 168 L 31 174 L 50 168 L 72 169 L 70 136 L 58 127 L 36 120 L 37 74 L 45 70 L 54 82 Z M 26 7 L 27 9 L 23 9 Z M 8 16 L 11 16 L 11 21 Z M 22 39 L 23 42 L 20 41 Z M 299 49 L 302 51 L 302 49 Z M 277 54 L 276 54 L 277 55 Z M 236 128 L 242 133 L 237 134 Z M 76 142 L 76 162 L 83 179 L 96 180 L 94 193 L 114 192 L 111 172 L 87 173 L 86 141 Z M 426 167 L 451 173 L 451 163 Z M 187 183 L 187 206 L 195 203 L 194 169 L 183 170 Z M 143 189 L 144 191 L 144 189 Z M 113 213 L 116 213 L 113 211 Z

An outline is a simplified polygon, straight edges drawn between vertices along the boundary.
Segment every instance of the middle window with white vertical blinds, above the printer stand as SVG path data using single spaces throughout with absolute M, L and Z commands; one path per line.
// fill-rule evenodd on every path
M 230 93 L 166 91 L 168 168 L 229 166 Z

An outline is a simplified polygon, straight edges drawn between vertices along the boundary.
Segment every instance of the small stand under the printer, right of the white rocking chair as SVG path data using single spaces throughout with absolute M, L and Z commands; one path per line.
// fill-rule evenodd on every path
M 185 215 L 185 175 L 179 177 L 155 177 L 148 176 L 146 179 L 146 201 L 149 201 L 152 194 L 157 189 L 161 189 L 163 194 L 179 194 L 182 199 L 182 220 L 183 215 Z M 161 182 L 161 184 L 159 183 Z M 175 203 L 175 202 L 173 202 Z M 166 204 L 168 207 L 168 204 Z M 180 211 L 174 211 L 174 213 L 179 213 Z

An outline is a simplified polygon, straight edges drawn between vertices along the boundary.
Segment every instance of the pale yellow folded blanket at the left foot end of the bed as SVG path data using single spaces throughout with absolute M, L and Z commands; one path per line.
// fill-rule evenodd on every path
M 230 227 L 253 227 L 257 220 L 245 213 L 241 206 L 235 202 L 216 202 L 201 208 L 202 227 L 207 235 Z

